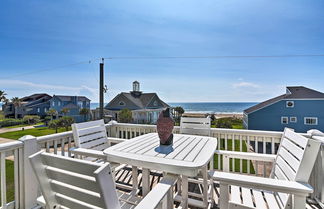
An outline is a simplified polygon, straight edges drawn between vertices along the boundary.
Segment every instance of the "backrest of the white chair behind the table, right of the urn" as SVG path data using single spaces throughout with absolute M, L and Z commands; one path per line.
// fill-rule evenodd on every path
M 181 117 L 180 133 L 210 136 L 210 118 Z

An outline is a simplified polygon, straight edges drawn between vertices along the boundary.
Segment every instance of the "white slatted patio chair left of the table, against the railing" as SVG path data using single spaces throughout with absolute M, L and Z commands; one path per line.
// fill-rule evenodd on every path
M 112 143 L 117 144 L 126 140 L 108 137 L 104 120 L 74 123 L 72 124 L 72 132 L 75 147 L 71 149 L 71 153 L 81 159 L 93 162 L 105 162 L 107 157 L 103 150 L 110 147 Z M 125 164 L 110 163 L 110 165 L 114 173 L 126 167 Z M 138 178 L 137 172 L 137 168 L 133 167 L 133 179 Z M 133 184 L 137 184 L 137 181 L 133 181 Z M 117 184 L 117 186 L 123 189 L 133 189 L 138 192 L 138 185 L 133 185 L 132 188 L 124 184 Z

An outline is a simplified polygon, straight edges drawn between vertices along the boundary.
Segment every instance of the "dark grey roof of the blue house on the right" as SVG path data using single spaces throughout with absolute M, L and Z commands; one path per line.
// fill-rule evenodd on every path
M 286 94 L 261 102 L 244 110 L 244 112 L 249 114 L 283 99 L 324 99 L 324 93 L 306 88 L 304 86 L 288 86 Z

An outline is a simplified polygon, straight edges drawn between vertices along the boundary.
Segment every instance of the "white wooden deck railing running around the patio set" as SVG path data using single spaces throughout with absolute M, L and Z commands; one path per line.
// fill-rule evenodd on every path
M 111 123 L 106 125 L 108 136 L 129 139 L 138 135 L 156 132 L 155 125 L 139 125 Z M 175 127 L 174 133 L 179 133 L 180 128 Z M 276 154 L 282 132 L 253 131 L 237 129 L 212 128 L 211 135 L 218 139 L 218 148 L 230 151 L 249 151 L 267 154 Z M 235 146 L 232 146 L 235 144 Z M 51 134 L 41 137 L 25 136 L 18 141 L 0 144 L 0 178 L 1 178 L 1 209 L 32 208 L 36 205 L 38 196 L 38 185 L 33 175 L 28 156 L 44 149 L 59 155 L 71 156 L 70 148 L 74 146 L 72 132 Z M 314 198 L 324 201 L 324 140 L 322 146 L 321 160 L 317 163 L 317 171 L 311 180 L 314 186 Z M 7 186 L 5 159 L 13 161 L 14 164 L 14 201 L 7 201 Z M 222 156 L 215 154 L 216 164 L 214 168 L 223 169 Z M 242 159 L 230 160 L 230 171 L 247 173 L 250 175 L 267 176 L 271 165 L 257 161 L 246 161 Z M 236 169 L 233 169 L 236 168 Z M 318 184 L 318 182 L 322 182 Z

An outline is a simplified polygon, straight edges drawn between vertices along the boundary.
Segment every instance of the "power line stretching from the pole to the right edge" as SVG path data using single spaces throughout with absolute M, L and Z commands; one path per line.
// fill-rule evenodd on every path
M 238 56 L 157 56 L 157 57 L 105 57 L 104 59 L 227 59 L 227 58 L 289 58 L 289 57 L 324 57 L 324 54 L 287 54 L 287 55 L 238 55 Z

